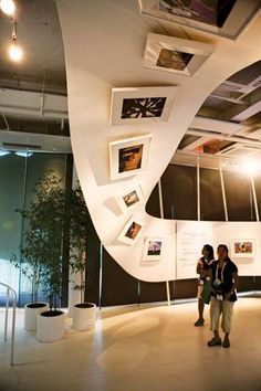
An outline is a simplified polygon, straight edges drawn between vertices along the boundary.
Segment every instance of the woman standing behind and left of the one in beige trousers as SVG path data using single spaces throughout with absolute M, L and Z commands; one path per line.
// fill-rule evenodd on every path
M 210 276 L 210 265 L 213 262 L 213 247 L 210 244 L 205 244 L 201 251 L 202 256 L 198 260 L 197 264 L 197 274 L 198 277 L 198 320 L 194 324 L 194 326 L 203 326 L 203 300 L 201 297 L 203 290 L 203 284 L 206 278 Z

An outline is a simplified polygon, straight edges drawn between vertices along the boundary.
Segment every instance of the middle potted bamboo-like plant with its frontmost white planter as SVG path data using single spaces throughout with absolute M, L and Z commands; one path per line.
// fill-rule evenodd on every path
M 61 179 L 52 171 L 36 184 L 34 213 L 41 231 L 39 242 L 42 270 L 42 292 L 49 298 L 50 310 L 38 316 L 38 339 L 52 342 L 64 337 L 64 313 L 59 303 L 62 290 L 62 241 L 65 224 L 65 192 Z

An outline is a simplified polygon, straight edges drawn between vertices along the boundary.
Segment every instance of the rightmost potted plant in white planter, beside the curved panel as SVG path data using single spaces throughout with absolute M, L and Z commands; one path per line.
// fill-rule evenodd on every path
M 80 186 L 72 189 L 67 197 L 70 205 L 70 266 L 71 274 L 79 274 L 80 277 L 79 284 L 73 282 L 73 289 L 81 293 L 81 303 L 73 306 L 72 327 L 75 330 L 83 331 L 94 328 L 96 323 L 96 305 L 84 302 L 87 237 L 91 220 Z

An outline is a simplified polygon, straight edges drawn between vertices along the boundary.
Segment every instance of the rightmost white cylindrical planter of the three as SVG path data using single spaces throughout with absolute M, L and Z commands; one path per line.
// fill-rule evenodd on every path
M 76 304 L 73 307 L 72 328 L 77 331 L 91 330 L 96 323 L 96 305 L 94 303 Z

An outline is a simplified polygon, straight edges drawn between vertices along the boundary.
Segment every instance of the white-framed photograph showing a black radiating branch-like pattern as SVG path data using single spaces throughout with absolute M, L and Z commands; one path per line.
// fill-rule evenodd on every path
M 111 125 L 167 121 L 178 87 L 113 88 Z

